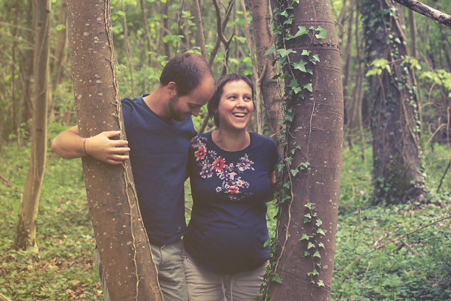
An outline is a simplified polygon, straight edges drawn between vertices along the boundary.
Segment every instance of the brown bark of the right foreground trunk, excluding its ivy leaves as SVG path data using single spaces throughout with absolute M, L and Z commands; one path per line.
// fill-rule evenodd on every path
M 281 3 L 287 5 L 286 1 Z M 296 76 L 300 87 L 312 84 L 312 92 L 307 92 L 304 99 L 299 97 L 291 100 L 288 106 L 295 114 L 290 127 L 285 129 L 288 131 L 288 149 L 284 157 L 291 157 L 294 151 L 290 168 L 302 163 L 308 163 L 309 166 L 295 176 L 288 173 L 291 182 L 289 195 L 292 197 L 279 206 L 279 247 L 275 254 L 275 271 L 280 274 L 283 284 L 271 282 L 269 294 L 273 301 L 329 300 L 343 139 L 341 59 L 329 1 L 305 0 L 299 4 L 293 3 L 293 6 L 294 9 L 289 13 L 294 14 L 290 26 L 292 35 L 298 31 L 298 26 L 307 29 L 321 26 L 327 31 L 327 36 L 319 39 L 310 31 L 309 35 L 286 41 L 286 49 L 297 51 L 289 55 L 291 62 L 305 59 L 305 56 L 301 56 L 302 50 L 311 50 L 312 54 L 318 55 L 320 62 L 316 65 L 308 63 L 307 68 L 312 68 L 313 75 L 298 72 L 292 67 L 288 70 Z M 288 87 L 290 82 L 286 81 L 285 85 Z M 296 149 L 296 146 L 301 148 Z M 325 232 L 317 238 L 318 243 L 324 244 L 321 249 L 316 245 L 321 258 L 312 257 L 311 254 L 305 256 L 309 250 L 308 241 L 300 240 L 304 234 L 313 234 L 313 225 L 303 222 L 309 212 L 306 207 L 308 203 L 313 203 L 317 208 L 316 219 L 318 223 L 319 219 L 322 221 L 321 228 Z M 308 275 L 314 269 L 319 274 Z

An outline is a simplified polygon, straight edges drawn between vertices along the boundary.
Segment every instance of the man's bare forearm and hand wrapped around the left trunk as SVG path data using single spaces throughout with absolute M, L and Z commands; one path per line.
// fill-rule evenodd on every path
M 109 164 L 121 164 L 128 159 L 130 148 L 126 140 L 111 140 L 120 131 L 104 131 L 90 138 L 83 138 L 78 127 L 73 126 L 62 131 L 52 140 L 52 150 L 64 159 L 81 158 L 87 155 Z

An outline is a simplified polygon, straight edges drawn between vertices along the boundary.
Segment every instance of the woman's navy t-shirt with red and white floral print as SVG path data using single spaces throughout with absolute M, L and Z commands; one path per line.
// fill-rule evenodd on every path
M 270 258 L 266 203 L 278 148 L 269 137 L 251 132 L 238 152 L 219 148 L 211 132 L 191 140 L 188 173 L 193 200 L 184 236 L 186 252 L 218 274 L 250 271 Z

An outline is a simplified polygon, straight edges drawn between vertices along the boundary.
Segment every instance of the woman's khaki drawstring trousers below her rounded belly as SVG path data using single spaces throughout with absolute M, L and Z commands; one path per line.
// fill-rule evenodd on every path
M 252 301 L 260 293 L 268 265 L 265 262 L 249 272 L 221 275 L 199 267 L 184 250 L 182 256 L 189 301 Z

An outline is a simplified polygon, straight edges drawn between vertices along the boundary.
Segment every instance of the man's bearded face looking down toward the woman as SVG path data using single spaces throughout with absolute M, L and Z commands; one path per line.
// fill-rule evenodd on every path
M 188 115 L 198 116 L 200 107 L 207 103 L 214 93 L 214 79 L 205 76 L 190 93 L 175 95 L 169 100 L 170 117 L 177 121 L 185 120 Z

